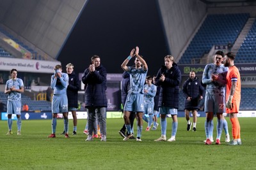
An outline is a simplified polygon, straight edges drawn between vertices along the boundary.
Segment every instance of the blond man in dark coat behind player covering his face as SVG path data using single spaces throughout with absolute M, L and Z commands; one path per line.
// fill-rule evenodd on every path
M 76 135 L 77 131 L 77 117 L 76 110 L 78 108 L 77 96 L 79 90 L 79 78 L 77 77 L 74 71 L 74 65 L 68 63 L 66 66 L 66 71 L 68 74 L 68 87 L 67 87 L 67 96 L 68 96 L 68 111 L 71 111 L 73 117 L 73 135 Z M 62 134 L 65 134 L 63 131 Z

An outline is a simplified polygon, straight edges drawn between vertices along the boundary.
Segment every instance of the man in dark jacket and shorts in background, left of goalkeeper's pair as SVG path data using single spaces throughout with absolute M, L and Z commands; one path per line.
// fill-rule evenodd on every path
M 197 111 L 200 109 L 199 101 L 203 99 L 204 87 L 201 81 L 196 77 L 195 71 L 190 71 L 189 78 L 183 83 L 182 88 L 183 96 L 185 97 L 185 117 L 188 122 L 187 131 L 191 129 L 191 122 L 189 120 L 189 112 L 193 114 L 193 131 L 196 131 L 196 116 Z

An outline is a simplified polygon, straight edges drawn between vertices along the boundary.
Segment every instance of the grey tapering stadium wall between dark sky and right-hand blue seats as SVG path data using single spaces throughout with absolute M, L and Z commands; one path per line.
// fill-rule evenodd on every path
M 175 61 L 185 48 L 198 24 L 207 13 L 206 4 L 198 0 L 158 0 L 164 32 Z

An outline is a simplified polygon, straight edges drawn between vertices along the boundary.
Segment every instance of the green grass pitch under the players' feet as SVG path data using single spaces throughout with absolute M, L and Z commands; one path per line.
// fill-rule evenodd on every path
M 232 136 L 229 118 L 228 129 Z M 51 134 L 51 120 L 22 120 L 22 136 L 17 136 L 13 121 L 13 135 L 7 136 L 6 121 L 0 121 L 0 169 L 256 169 L 256 118 L 239 118 L 241 146 L 204 145 L 205 118 L 198 118 L 198 131 L 186 131 L 186 120 L 179 118 L 175 142 L 156 142 L 161 136 L 157 131 L 146 132 L 143 125 L 142 142 L 134 139 L 123 141 L 118 131 L 123 119 L 107 119 L 107 141 L 85 141 L 83 134 L 86 120 L 78 120 L 77 135 L 70 138 L 60 135 L 63 120 L 58 120 L 56 138 Z M 158 120 L 159 122 L 159 120 Z M 167 138 L 170 138 L 172 119 L 168 118 Z M 136 127 L 135 127 L 136 134 Z M 216 118 L 214 118 L 214 139 Z

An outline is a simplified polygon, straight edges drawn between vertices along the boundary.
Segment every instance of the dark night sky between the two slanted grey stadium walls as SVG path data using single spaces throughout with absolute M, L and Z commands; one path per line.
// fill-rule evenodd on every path
M 58 56 L 63 67 L 74 64 L 83 73 L 92 55 L 99 55 L 108 73 L 123 73 L 120 67 L 132 48 L 139 46 L 156 74 L 169 53 L 156 1 L 90 0 Z M 134 64 L 131 60 L 128 66 Z

